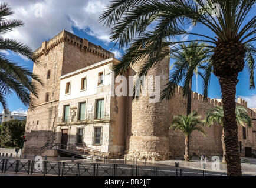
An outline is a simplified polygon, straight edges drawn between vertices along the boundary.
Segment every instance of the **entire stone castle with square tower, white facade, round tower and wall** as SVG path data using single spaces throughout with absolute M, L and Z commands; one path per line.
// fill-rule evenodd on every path
M 134 100 L 132 96 L 113 95 L 119 84 L 108 72 L 119 61 L 114 59 L 113 53 L 66 31 L 44 42 L 35 53 L 40 64 L 34 65 L 34 73 L 40 76 L 44 86 L 38 85 L 40 92 L 33 100 L 35 108 L 29 109 L 27 115 L 26 153 L 39 154 L 46 143 L 65 141 L 99 149 L 110 158 L 124 154 L 126 159 L 167 160 L 171 156 L 183 155 L 185 137 L 181 132 L 169 129 L 173 116 L 186 114 L 182 87 L 178 86 L 175 96 L 169 101 L 156 103 L 149 102 L 156 98 L 156 92 L 147 92 L 146 96 Z M 127 72 L 127 89 L 133 82 L 129 76 L 136 75 L 139 66 L 140 63 Z M 163 59 L 148 75 L 153 76 L 153 80 L 160 76 L 160 90 L 163 89 L 168 82 L 169 59 Z M 99 76 L 103 78 L 100 85 Z M 85 88 L 81 87 L 82 83 L 86 84 Z M 152 91 L 154 84 L 150 86 Z M 191 96 L 192 110 L 202 118 L 207 109 L 222 105 L 220 99 L 208 98 L 205 102 L 198 93 L 192 92 Z M 99 99 L 104 101 L 101 118 L 97 117 Z M 240 98 L 238 105 L 247 108 L 247 102 Z M 65 113 L 67 109 L 68 113 Z M 238 127 L 241 153 L 245 148 L 256 149 L 256 110 L 247 110 L 254 119 L 254 126 Z M 84 116 L 82 120 L 81 114 Z M 192 134 L 191 152 L 221 155 L 221 126 L 204 129 L 206 137 L 198 132 Z M 63 140 L 64 131 L 68 135 L 67 140 Z M 97 136 L 99 139 L 95 143 Z

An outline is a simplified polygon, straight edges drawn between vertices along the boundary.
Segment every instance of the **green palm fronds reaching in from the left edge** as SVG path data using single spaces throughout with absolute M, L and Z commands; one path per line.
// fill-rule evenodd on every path
M 0 4 L 0 35 L 8 31 L 12 31 L 18 26 L 22 26 L 23 22 L 18 20 L 10 20 L 6 16 L 13 15 L 11 7 L 8 4 Z M 8 108 L 6 96 L 16 93 L 25 106 L 33 107 L 30 93 L 37 96 L 37 87 L 32 83 L 32 79 L 41 83 L 40 79 L 24 66 L 17 65 L 17 62 L 6 57 L 6 51 L 16 53 L 25 58 L 34 61 L 32 49 L 23 43 L 19 43 L 14 39 L 3 38 L 0 36 L 0 103 L 4 109 Z

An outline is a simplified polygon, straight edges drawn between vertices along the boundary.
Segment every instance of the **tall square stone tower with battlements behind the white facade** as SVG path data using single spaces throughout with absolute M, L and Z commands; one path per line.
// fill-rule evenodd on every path
M 40 148 L 54 142 L 57 130 L 60 76 L 76 71 L 114 54 L 67 31 L 62 31 L 35 51 L 40 65 L 35 65 L 33 73 L 44 83 L 37 82 L 38 98 L 34 110 L 29 109 L 25 135 L 25 153 L 40 153 Z

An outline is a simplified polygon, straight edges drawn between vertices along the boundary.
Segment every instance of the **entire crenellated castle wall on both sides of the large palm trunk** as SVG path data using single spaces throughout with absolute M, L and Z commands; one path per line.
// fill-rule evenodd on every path
M 207 102 L 203 101 L 203 96 L 192 92 L 192 112 L 198 112 L 198 115 L 202 116 L 202 119 L 205 119 L 205 113 L 209 108 L 214 106 L 221 106 L 221 100 L 209 99 Z M 169 101 L 170 105 L 170 122 L 172 122 L 173 116 L 178 114 L 186 114 L 186 98 L 182 97 L 182 87 L 178 87 L 175 95 Z M 237 105 L 242 105 L 247 108 L 247 102 L 244 100 L 238 99 Z M 256 113 L 252 112 L 251 109 L 248 109 L 248 115 L 251 117 L 255 116 Z M 238 141 L 242 142 L 242 148 L 252 147 L 256 145 L 255 133 L 255 121 L 254 127 L 250 128 L 247 125 L 244 125 L 247 132 L 247 139 L 243 139 L 242 126 L 238 125 Z M 206 132 L 206 137 L 199 132 L 193 132 L 191 136 L 191 153 L 195 155 L 222 155 L 222 127 L 214 123 L 211 127 L 205 126 L 204 130 Z M 182 132 L 177 130 L 176 132 L 173 129 L 169 130 L 169 139 L 170 139 L 170 152 L 172 156 L 183 156 L 185 151 L 185 136 Z

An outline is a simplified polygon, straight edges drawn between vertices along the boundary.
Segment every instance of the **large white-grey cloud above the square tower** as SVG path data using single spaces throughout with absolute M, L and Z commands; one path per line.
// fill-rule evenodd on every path
M 6 1 L 0 0 L 0 2 Z M 108 43 L 109 29 L 104 28 L 99 22 L 99 16 L 107 2 L 107 0 L 8 0 L 15 12 L 10 18 L 21 19 L 24 21 L 24 26 L 7 33 L 4 37 L 17 39 L 37 49 L 42 42 L 57 35 L 63 29 L 73 32 L 72 27 L 76 27 Z M 38 6 L 38 3 L 41 6 Z

